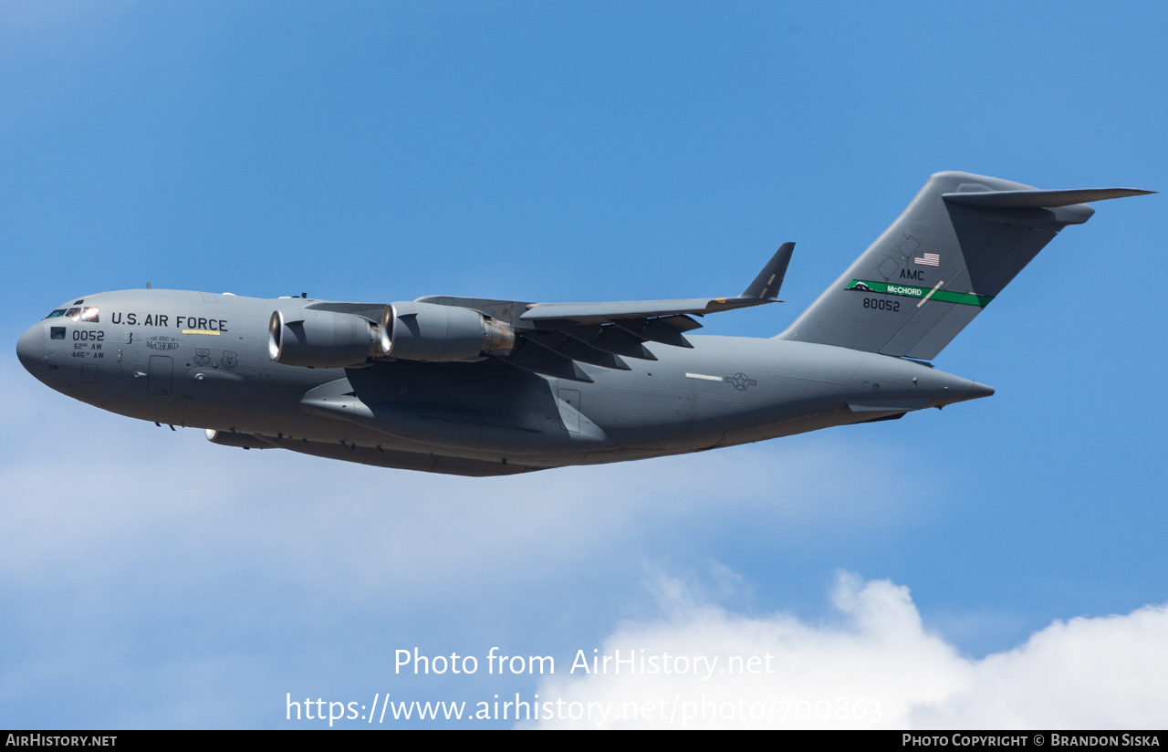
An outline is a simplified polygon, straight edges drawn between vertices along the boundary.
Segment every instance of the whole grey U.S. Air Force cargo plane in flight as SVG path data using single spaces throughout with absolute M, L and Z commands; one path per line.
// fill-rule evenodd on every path
M 776 302 L 793 243 L 726 298 L 106 292 L 54 308 L 16 353 L 70 397 L 245 450 L 479 476 L 698 452 L 988 397 L 929 361 L 1087 202 L 1148 193 L 937 173 L 772 339 L 690 333 Z

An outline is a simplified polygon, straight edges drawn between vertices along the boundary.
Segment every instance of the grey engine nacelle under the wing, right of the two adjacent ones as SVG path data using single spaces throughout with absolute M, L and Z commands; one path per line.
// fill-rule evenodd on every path
M 408 361 L 470 361 L 515 349 L 515 330 L 478 311 L 395 302 L 381 315 L 381 350 Z

